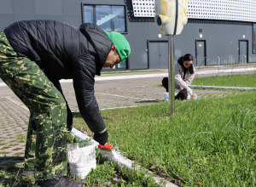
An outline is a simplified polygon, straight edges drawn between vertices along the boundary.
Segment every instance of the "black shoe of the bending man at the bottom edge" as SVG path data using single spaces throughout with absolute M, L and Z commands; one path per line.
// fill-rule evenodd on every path
M 37 187 L 83 187 L 80 181 L 68 177 L 53 178 L 51 180 L 43 180 L 35 182 Z

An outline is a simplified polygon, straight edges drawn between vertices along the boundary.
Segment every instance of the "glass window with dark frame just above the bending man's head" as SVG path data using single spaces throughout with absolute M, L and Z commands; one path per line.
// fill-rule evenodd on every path
M 84 22 L 95 23 L 105 31 L 126 32 L 125 6 L 84 5 Z

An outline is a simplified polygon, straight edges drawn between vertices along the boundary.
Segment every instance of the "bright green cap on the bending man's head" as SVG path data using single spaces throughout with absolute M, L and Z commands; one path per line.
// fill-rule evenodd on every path
M 124 59 L 131 54 L 131 48 L 126 38 L 117 31 L 105 31 L 109 39 L 116 46 L 116 50 L 119 54 L 120 59 L 124 62 Z

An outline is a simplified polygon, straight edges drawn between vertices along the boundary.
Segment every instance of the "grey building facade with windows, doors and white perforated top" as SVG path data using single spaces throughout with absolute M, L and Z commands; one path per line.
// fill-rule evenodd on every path
M 189 21 L 175 36 L 175 59 L 246 56 L 256 62 L 255 0 L 188 0 Z M 131 55 L 116 70 L 168 67 L 168 37 L 154 23 L 154 0 L 0 0 L 0 31 L 17 20 L 92 22 L 119 31 Z M 206 64 L 207 65 L 207 64 Z

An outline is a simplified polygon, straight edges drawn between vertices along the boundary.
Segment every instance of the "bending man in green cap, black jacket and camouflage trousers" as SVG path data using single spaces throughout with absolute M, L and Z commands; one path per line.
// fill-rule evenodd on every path
M 130 53 L 122 34 L 90 23 L 78 29 L 57 20 L 21 20 L 0 32 L 0 78 L 31 112 L 25 170 L 34 173 L 38 186 L 83 186 L 67 178 L 67 128 L 72 127 L 59 80 L 73 79 L 80 114 L 93 139 L 105 144 L 108 131 L 94 95 L 94 77 Z

